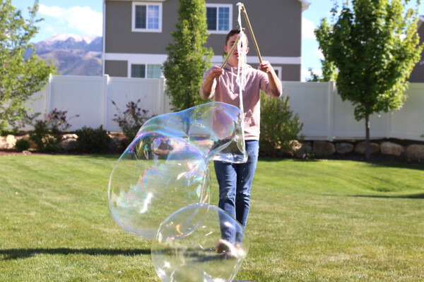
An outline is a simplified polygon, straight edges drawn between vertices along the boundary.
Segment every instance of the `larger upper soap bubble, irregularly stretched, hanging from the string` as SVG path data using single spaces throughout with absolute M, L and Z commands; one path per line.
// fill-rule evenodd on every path
M 147 121 L 110 176 L 114 222 L 126 232 L 153 239 L 172 213 L 210 202 L 209 162 L 247 160 L 240 121 L 240 109 L 220 102 Z

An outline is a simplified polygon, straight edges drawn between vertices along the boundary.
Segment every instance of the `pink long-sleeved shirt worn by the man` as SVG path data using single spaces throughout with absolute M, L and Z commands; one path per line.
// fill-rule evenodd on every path
M 204 99 L 213 97 L 215 102 L 224 102 L 240 108 L 240 90 L 237 82 L 237 67 L 232 67 L 228 63 L 224 66 L 224 73 L 216 79 L 215 91 L 204 92 L 200 87 L 200 96 Z M 206 71 L 204 78 L 211 69 Z M 261 104 L 259 90 L 263 90 L 271 96 L 268 75 L 263 71 L 256 70 L 252 66 L 245 65 L 246 87 L 242 91 L 243 108 L 245 118 L 245 140 L 259 140 L 261 122 Z M 282 90 L 278 89 L 281 96 Z

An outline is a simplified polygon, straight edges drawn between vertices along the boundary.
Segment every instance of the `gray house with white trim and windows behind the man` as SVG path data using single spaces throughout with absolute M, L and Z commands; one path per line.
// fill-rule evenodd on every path
M 300 81 L 302 11 L 306 0 L 245 0 L 263 60 L 270 61 L 281 80 Z M 212 47 L 212 64 L 223 62 L 225 35 L 237 28 L 237 1 L 207 0 L 206 16 Z M 159 78 L 167 58 L 165 47 L 178 21 L 178 0 L 103 0 L 103 75 Z M 247 27 L 242 18 L 243 27 Z M 247 63 L 257 68 L 259 59 L 247 32 Z

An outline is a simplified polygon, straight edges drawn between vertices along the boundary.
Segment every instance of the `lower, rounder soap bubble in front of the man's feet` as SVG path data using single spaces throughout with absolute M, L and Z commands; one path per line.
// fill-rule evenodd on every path
M 230 235 L 224 239 L 224 233 Z M 232 281 L 248 251 L 249 239 L 237 220 L 213 205 L 191 204 L 160 225 L 152 260 L 164 282 L 223 282 Z

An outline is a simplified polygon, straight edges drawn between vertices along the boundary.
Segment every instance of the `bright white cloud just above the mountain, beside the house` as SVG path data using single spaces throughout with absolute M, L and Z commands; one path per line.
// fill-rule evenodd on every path
M 58 25 L 64 25 L 64 27 L 69 27 L 69 29 L 78 30 L 84 35 L 102 35 L 102 13 L 93 11 L 88 6 L 61 8 L 41 4 L 38 12 L 43 16 L 56 18 Z

